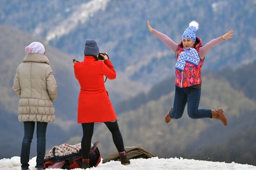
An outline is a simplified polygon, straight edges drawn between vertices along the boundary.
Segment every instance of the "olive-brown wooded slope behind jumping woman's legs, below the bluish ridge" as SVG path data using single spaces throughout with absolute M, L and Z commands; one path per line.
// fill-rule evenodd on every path
M 227 127 L 216 119 L 191 119 L 186 110 L 181 119 L 165 124 L 164 116 L 173 104 L 173 98 L 174 91 L 148 101 L 135 110 L 121 114 L 118 124 L 125 145 L 142 145 L 159 157 L 193 158 L 194 155 L 202 153 L 205 148 L 212 145 L 227 144 L 238 132 L 237 128 L 245 127 L 243 131 L 247 131 L 255 127 L 253 121 L 248 121 L 253 118 L 251 114 L 256 111 L 255 102 L 245 97 L 243 92 L 233 89 L 228 81 L 205 76 L 200 103 L 200 108 L 223 108 L 228 118 Z M 248 112 L 250 114 L 246 114 Z M 244 117 L 244 114 L 247 116 Z M 239 121 L 240 119 L 243 121 Z M 100 141 L 100 150 L 104 157 L 115 150 L 115 145 L 107 128 L 103 124 L 96 126 L 99 127 L 94 131 L 93 140 Z M 234 144 L 238 145 L 236 142 Z M 226 154 L 234 151 L 226 145 L 217 148 L 215 153 L 222 152 L 223 147 L 226 147 Z M 237 150 L 243 151 L 243 148 L 237 148 Z M 252 153 L 254 154 L 254 151 Z M 202 156 L 207 157 L 207 153 L 205 154 Z M 210 159 L 213 160 L 213 157 Z M 219 159 L 230 161 L 225 157 Z M 236 161 L 239 160 L 236 159 Z

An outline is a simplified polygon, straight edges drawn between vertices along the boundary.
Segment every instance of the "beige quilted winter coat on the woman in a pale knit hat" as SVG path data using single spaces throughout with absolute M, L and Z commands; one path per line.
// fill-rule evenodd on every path
M 46 56 L 27 54 L 16 71 L 13 91 L 19 96 L 19 121 L 53 122 L 57 84 Z

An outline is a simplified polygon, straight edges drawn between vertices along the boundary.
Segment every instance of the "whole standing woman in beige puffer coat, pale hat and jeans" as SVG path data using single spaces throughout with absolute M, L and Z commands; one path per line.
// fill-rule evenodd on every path
M 13 91 L 19 96 L 19 121 L 24 123 L 21 148 L 21 169 L 28 169 L 30 144 L 37 122 L 36 168 L 44 166 L 45 136 L 48 122 L 55 120 L 53 102 L 57 97 L 57 84 L 44 46 L 33 42 L 26 47 L 27 55 L 16 71 Z

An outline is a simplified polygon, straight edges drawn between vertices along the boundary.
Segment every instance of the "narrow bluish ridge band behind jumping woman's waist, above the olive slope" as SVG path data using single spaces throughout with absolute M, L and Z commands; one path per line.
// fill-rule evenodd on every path
M 217 72 L 202 71 L 202 79 L 204 80 L 204 75 L 206 75 L 208 77 L 214 77 L 220 81 L 228 81 L 232 88 L 242 91 L 247 98 L 256 102 L 256 90 L 254 87 L 256 77 L 252 76 L 248 78 L 248 75 L 255 71 L 255 67 L 256 60 L 236 69 L 225 67 Z M 175 89 L 174 82 L 175 77 L 165 78 L 162 82 L 153 85 L 148 92 L 141 92 L 135 97 L 121 101 L 116 105 L 115 109 L 117 113 L 137 109 L 141 104 L 145 104 L 151 100 L 156 100 L 162 95 L 172 92 Z

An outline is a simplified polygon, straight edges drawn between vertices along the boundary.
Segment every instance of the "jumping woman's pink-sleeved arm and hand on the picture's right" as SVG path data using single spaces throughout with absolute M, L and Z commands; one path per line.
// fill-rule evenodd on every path
M 234 31 L 230 30 L 228 33 L 225 33 L 224 35 L 220 36 L 219 38 L 213 39 L 210 42 L 208 42 L 206 45 L 200 47 L 199 50 L 199 57 L 200 59 L 204 59 L 205 55 L 207 54 L 207 52 L 210 51 L 210 49 L 214 46 L 216 46 L 217 44 L 220 44 L 222 41 L 226 40 L 226 39 L 232 39 L 233 37 L 231 37 L 233 35 Z

